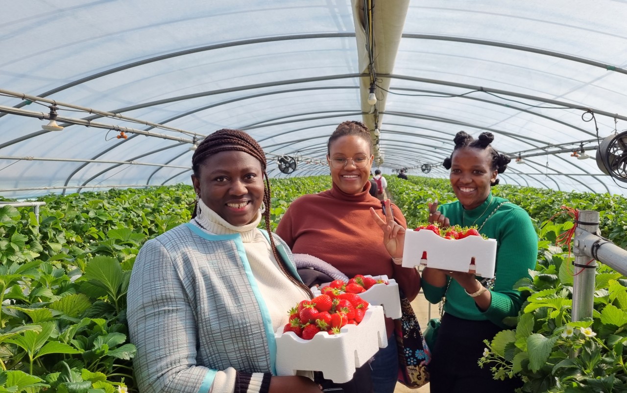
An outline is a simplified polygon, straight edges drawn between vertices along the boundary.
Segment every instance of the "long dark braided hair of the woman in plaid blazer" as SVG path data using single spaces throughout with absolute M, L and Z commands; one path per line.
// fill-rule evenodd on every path
M 266 155 L 263 152 L 263 149 L 261 149 L 261 146 L 258 144 L 258 142 L 253 137 L 246 134 L 246 132 L 240 130 L 231 130 L 229 128 L 223 128 L 214 132 L 211 135 L 208 135 L 208 137 L 206 137 L 203 142 L 198 145 L 198 148 L 194 152 L 194 155 L 192 155 L 192 171 L 194 172 L 194 176 L 200 179 L 200 167 L 209 157 L 219 152 L 232 150 L 237 150 L 250 154 L 260 162 L 261 170 L 263 171 L 263 178 L 265 178 L 265 187 L 263 189 L 263 203 L 265 204 L 266 209 L 265 212 L 263 212 L 263 218 L 265 221 L 266 231 L 268 231 L 268 238 L 270 238 L 270 247 L 272 249 L 272 253 L 277 260 L 277 264 L 283 274 L 285 274 L 295 285 L 305 290 L 305 293 L 307 293 L 311 297 L 311 290 L 307 287 L 307 285 L 297 280 L 290 273 L 287 266 L 285 265 L 285 261 L 283 261 L 283 259 L 280 258 L 278 254 L 277 244 L 275 244 L 274 236 L 272 236 L 272 231 L 270 229 L 270 180 L 268 179 L 268 174 L 266 173 Z M 198 201 L 196 201 L 196 206 L 194 206 L 192 218 L 196 217 L 197 207 Z

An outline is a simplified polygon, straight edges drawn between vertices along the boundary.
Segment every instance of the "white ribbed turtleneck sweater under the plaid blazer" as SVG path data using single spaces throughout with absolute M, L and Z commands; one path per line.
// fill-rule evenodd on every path
M 270 312 L 272 329 L 276 332 L 278 327 L 288 322 L 290 308 L 297 305 L 298 301 L 308 299 L 309 295 L 302 288 L 294 285 L 280 270 L 277 260 L 272 253 L 270 243 L 257 229 L 258 224 L 261 222 L 261 213 L 259 212 L 250 224 L 234 226 L 209 209 L 201 199 L 198 200 L 198 206 L 199 212 L 196 218 L 191 220 L 192 224 L 209 234 L 240 234 L 246 250 L 246 258 L 248 258 L 261 296 L 266 302 L 268 312 Z M 253 374 L 253 377 L 251 377 L 248 391 L 258 391 L 263 378 L 263 374 L 258 374 Z M 231 367 L 218 371 L 210 392 L 233 393 L 235 377 L 236 370 Z

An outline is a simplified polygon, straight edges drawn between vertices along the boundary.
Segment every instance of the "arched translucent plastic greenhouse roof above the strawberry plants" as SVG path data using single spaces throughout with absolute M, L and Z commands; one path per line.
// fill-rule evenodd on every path
M 0 196 L 190 183 L 189 147 L 219 128 L 255 137 L 271 177 L 280 155 L 328 174 L 344 120 L 371 128 L 384 172 L 446 177 L 456 132 L 487 130 L 522 159 L 503 184 L 623 194 L 571 156 L 627 128 L 627 3 L 591 5 L 5 1 Z M 41 128 L 53 104 L 60 132 Z

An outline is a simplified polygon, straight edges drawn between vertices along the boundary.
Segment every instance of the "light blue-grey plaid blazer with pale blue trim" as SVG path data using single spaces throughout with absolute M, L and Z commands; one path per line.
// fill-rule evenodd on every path
M 278 236 L 275 243 L 298 278 L 289 248 Z M 186 223 L 147 241 L 127 298 L 140 392 L 206 393 L 228 367 L 276 374 L 270 314 L 240 234 Z

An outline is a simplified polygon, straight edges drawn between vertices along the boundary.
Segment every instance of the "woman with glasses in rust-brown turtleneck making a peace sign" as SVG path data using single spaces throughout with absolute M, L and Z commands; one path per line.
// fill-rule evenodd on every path
M 369 194 L 372 150 L 366 125 L 343 122 L 337 126 L 327 142 L 331 189 L 293 201 L 278 224 L 277 234 L 293 253 L 313 255 L 349 277 L 394 278 L 404 295 L 413 300 L 420 289 L 418 271 L 393 263 L 393 258 L 403 254 L 403 243 L 398 243 L 396 234 L 404 233 L 405 217 L 389 200 L 384 202 L 384 211 L 381 201 Z M 356 384 L 342 386 L 346 392 L 370 392 L 367 379 L 372 380 L 376 393 L 394 391 L 398 355 L 390 318 L 386 318 L 386 328 L 388 345 L 374 356 L 371 377 L 367 375 L 369 366 L 362 366 L 353 379 Z

